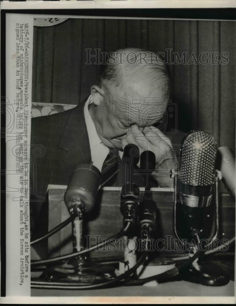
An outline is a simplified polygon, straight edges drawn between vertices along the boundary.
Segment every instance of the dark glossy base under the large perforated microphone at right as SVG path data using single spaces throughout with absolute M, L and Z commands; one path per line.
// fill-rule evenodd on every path
M 230 281 L 226 272 L 215 263 L 194 263 L 181 273 L 181 279 L 205 286 L 224 286 Z

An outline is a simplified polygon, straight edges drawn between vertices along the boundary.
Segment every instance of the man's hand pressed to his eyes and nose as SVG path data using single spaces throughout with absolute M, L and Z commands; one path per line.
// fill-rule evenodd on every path
M 170 177 L 170 170 L 174 168 L 174 159 L 171 154 L 172 144 L 170 139 L 154 126 L 140 129 L 137 125 L 132 125 L 127 132 L 126 139 L 122 140 L 122 145 L 136 144 L 143 151 L 152 151 L 156 158 L 156 169 L 152 175 L 160 187 L 173 187 L 174 181 Z

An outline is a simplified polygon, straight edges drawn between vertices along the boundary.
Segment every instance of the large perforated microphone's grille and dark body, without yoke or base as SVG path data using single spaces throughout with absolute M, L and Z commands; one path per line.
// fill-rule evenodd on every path
M 199 241 L 200 233 L 210 223 L 208 207 L 214 189 L 216 151 L 215 139 L 205 131 L 191 131 L 182 141 L 175 230 L 187 240 Z

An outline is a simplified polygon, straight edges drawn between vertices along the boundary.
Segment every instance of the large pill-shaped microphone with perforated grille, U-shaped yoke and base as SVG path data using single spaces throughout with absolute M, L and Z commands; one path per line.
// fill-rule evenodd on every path
M 174 232 L 179 241 L 182 239 L 183 245 L 188 245 L 189 257 L 198 254 L 197 250 L 206 251 L 218 237 L 219 174 L 215 171 L 216 152 L 216 141 L 208 132 L 191 131 L 183 139 L 180 181 L 175 179 L 175 192 L 179 190 L 180 193 L 175 194 Z M 213 193 L 215 205 L 211 205 Z M 212 233 L 214 214 L 215 230 Z M 181 272 L 181 278 L 207 286 L 226 285 L 230 278 L 225 271 L 217 265 L 198 262 L 199 255 Z

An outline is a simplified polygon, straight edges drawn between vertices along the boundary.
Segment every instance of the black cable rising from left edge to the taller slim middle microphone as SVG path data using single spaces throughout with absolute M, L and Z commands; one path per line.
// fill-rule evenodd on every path
M 125 232 L 127 232 L 130 228 L 131 224 L 130 222 L 127 222 L 127 225 L 125 228 L 123 228 L 118 234 L 108 238 L 106 241 L 102 241 L 99 244 L 96 244 L 95 246 L 89 248 L 89 249 L 85 249 L 82 250 L 80 252 L 76 252 L 76 253 L 71 253 L 71 254 L 67 254 L 67 255 L 63 255 L 63 256 L 58 256 L 58 257 L 54 257 L 54 258 L 49 258 L 49 259 L 44 259 L 44 260 L 36 260 L 36 261 L 32 261 L 31 262 L 31 267 L 33 266 L 38 266 L 38 265 L 42 265 L 45 263 L 53 263 L 55 261 L 60 261 L 60 260 L 64 260 L 64 259 L 68 259 L 68 258 L 72 258 L 72 257 L 76 257 L 78 255 L 82 255 L 82 254 L 86 254 L 88 252 L 91 252 L 92 250 L 95 250 L 96 248 L 99 248 L 100 246 L 105 246 L 107 245 L 107 243 L 109 242 L 109 240 L 111 239 L 118 239 L 120 237 L 122 237 L 124 235 Z

